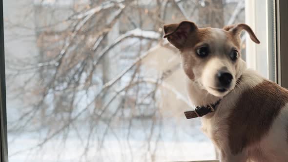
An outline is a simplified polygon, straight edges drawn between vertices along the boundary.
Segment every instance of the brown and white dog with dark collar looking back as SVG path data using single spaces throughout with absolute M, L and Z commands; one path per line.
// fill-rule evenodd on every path
M 251 28 L 199 28 L 191 21 L 163 28 L 164 38 L 180 51 L 188 96 L 197 105 L 185 115 L 201 117 L 220 161 L 288 162 L 288 90 L 241 59 L 243 30 L 260 43 Z

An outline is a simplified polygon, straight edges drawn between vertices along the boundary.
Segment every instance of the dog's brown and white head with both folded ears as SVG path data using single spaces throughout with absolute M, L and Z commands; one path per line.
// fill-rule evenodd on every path
M 232 90 L 241 76 L 240 34 L 246 30 L 260 43 L 246 24 L 223 29 L 198 28 L 190 21 L 164 25 L 164 38 L 181 51 L 185 74 L 210 94 L 222 97 Z

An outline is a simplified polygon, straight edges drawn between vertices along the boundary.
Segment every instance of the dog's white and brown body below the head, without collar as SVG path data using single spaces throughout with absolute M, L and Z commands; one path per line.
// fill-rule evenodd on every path
M 218 100 L 198 89 L 193 81 L 187 80 L 187 84 L 196 105 Z M 277 89 L 282 91 L 280 96 L 275 96 Z M 220 151 L 223 162 L 287 162 L 287 99 L 284 88 L 246 70 L 239 86 L 223 98 L 217 110 L 202 117 L 202 129 Z

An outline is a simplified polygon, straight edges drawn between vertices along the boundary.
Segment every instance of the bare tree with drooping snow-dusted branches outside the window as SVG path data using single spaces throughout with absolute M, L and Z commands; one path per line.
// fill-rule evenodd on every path
M 244 10 L 243 0 L 71 1 L 68 7 L 61 7 L 61 0 L 27 4 L 33 5 L 35 13 L 31 30 L 35 30 L 39 53 L 32 61 L 7 60 L 8 81 L 25 76 L 24 84 L 13 93 L 26 100 L 21 116 L 10 121 L 8 128 L 11 133 L 39 133 L 39 142 L 10 156 L 44 148 L 51 140 L 65 145 L 68 138 L 76 138 L 83 148 L 79 160 L 95 161 L 90 155 L 108 149 L 107 139 L 117 139 L 120 148 L 124 139 L 130 157 L 122 160 L 135 161 L 130 141 L 136 134 L 145 141 L 142 160 L 156 161 L 165 122 L 158 104 L 160 87 L 180 65 L 147 78 L 143 59 L 152 47 L 169 46 L 162 39 L 163 24 L 187 19 L 222 27 L 242 21 L 238 15 Z M 227 6 L 236 7 L 237 12 L 225 20 Z

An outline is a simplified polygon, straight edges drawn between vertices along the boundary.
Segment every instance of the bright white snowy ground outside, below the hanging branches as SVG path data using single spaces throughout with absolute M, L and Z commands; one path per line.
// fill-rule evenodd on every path
M 191 121 L 186 123 L 189 122 Z M 60 136 L 47 142 L 41 149 L 14 154 L 37 145 L 42 139 L 37 138 L 37 133 L 32 136 L 24 134 L 17 138 L 10 133 L 9 162 L 173 162 L 215 159 L 214 147 L 200 131 L 200 125 L 189 128 L 185 123 L 183 127 L 179 125 L 175 127 L 168 121 L 166 123 L 161 129 L 158 129 L 159 125 L 156 126 L 150 142 L 145 135 L 148 127 L 133 128 L 127 139 L 127 130 L 120 125 L 114 129 L 117 133 L 108 132 L 103 143 L 97 139 L 102 133 L 98 131 L 98 134 L 95 133 L 96 138 L 89 142 L 89 150 L 85 150 L 84 147 L 86 139 L 81 141 L 76 136 L 70 135 L 65 144 Z M 86 137 L 84 132 L 87 130 L 84 127 L 81 130 L 84 138 Z M 11 142 L 14 138 L 15 141 Z M 102 147 L 99 147 L 100 145 Z M 86 154 L 83 155 L 83 152 Z

